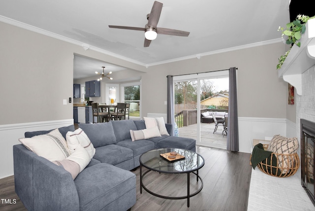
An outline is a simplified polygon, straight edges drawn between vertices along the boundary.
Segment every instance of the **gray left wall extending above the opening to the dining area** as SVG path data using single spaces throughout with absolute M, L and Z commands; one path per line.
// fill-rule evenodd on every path
M 0 125 L 72 119 L 73 54 L 146 68 L 0 22 Z

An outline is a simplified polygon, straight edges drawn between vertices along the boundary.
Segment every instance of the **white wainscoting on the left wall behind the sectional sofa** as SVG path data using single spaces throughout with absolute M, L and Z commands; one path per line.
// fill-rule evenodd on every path
M 13 145 L 28 131 L 51 130 L 73 125 L 73 119 L 0 125 L 0 178 L 13 175 Z

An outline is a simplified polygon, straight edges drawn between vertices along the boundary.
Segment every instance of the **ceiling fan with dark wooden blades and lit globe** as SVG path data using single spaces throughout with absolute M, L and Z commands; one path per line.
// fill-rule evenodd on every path
M 147 15 L 148 24 L 146 24 L 145 28 L 140 27 L 127 27 L 127 26 L 113 26 L 109 25 L 109 28 L 116 29 L 127 29 L 127 30 L 137 30 L 144 31 L 145 39 L 144 39 L 144 47 L 149 47 L 151 41 L 157 38 L 157 34 L 161 35 L 175 35 L 175 36 L 188 36 L 189 32 L 174 30 L 174 29 L 165 29 L 165 28 L 157 28 L 159 16 L 162 11 L 163 4 L 154 1 L 154 4 L 151 9 L 151 13 Z

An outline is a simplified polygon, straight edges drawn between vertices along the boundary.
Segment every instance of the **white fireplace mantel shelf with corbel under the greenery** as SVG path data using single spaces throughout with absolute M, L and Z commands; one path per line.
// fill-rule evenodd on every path
M 294 86 L 298 95 L 302 95 L 302 73 L 315 65 L 315 19 L 306 23 L 300 42 L 301 47 L 293 45 L 278 70 L 279 77 Z

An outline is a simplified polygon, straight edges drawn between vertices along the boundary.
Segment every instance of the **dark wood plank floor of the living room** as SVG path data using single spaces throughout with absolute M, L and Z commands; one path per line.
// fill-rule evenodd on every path
M 133 173 L 137 176 L 137 202 L 131 211 L 246 211 L 252 168 L 249 165 L 250 154 L 230 152 L 218 148 L 199 148 L 196 151 L 205 159 L 205 165 L 199 170 L 203 179 L 203 189 L 187 200 L 161 199 L 142 190 L 140 194 L 140 169 Z M 190 191 L 200 187 L 196 176 L 190 174 Z M 144 184 L 158 194 L 183 196 L 187 193 L 187 175 L 158 174 L 150 172 L 144 178 Z M 26 210 L 14 192 L 13 176 L 0 179 L 0 199 L 13 199 L 16 204 L 0 202 L 0 211 Z

